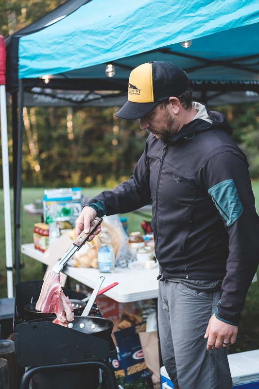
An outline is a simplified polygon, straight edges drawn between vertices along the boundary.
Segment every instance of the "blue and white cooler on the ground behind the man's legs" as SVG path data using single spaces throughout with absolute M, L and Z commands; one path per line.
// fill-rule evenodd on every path
M 233 389 L 259 389 L 259 350 L 228 355 Z M 173 384 L 162 366 L 161 388 L 173 388 Z

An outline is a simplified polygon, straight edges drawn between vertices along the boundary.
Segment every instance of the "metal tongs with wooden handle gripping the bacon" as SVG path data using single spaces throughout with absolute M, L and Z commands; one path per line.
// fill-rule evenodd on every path
M 88 234 L 85 234 L 84 231 L 78 236 L 78 238 L 73 242 L 72 246 L 66 252 L 66 254 L 52 267 L 52 271 L 55 273 L 60 273 L 63 267 L 67 264 L 72 255 L 79 250 L 87 241 L 90 235 L 97 229 L 97 227 L 102 223 L 105 216 L 95 217 L 90 224 L 90 231 Z

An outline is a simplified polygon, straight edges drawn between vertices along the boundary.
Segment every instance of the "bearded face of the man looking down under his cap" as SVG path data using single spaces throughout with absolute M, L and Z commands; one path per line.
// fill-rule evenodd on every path
M 169 106 L 160 105 L 140 119 L 140 127 L 149 130 L 160 141 L 166 141 L 179 130 L 178 119 L 169 111 Z

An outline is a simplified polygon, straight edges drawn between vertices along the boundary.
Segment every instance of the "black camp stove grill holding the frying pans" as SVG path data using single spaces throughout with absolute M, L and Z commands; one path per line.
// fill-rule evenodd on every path
M 108 358 L 116 357 L 117 350 L 110 329 L 87 334 L 79 326 L 67 328 L 52 323 L 53 318 L 35 319 L 23 309 L 32 300 L 37 301 L 43 281 L 16 284 L 14 342 L 17 365 L 20 370 L 20 389 L 118 389 L 114 371 Z M 82 300 L 86 296 L 67 288 L 69 299 Z M 109 321 L 102 318 L 96 305 L 90 317 L 83 320 Z M 81 317 L 75 317 L 81 320 Z M 82 324 L 83 325 L 83 324 Z M 92 324 L 94 325 L 94 324 Z M 25 371 L 25 368 L 27 369 Z

